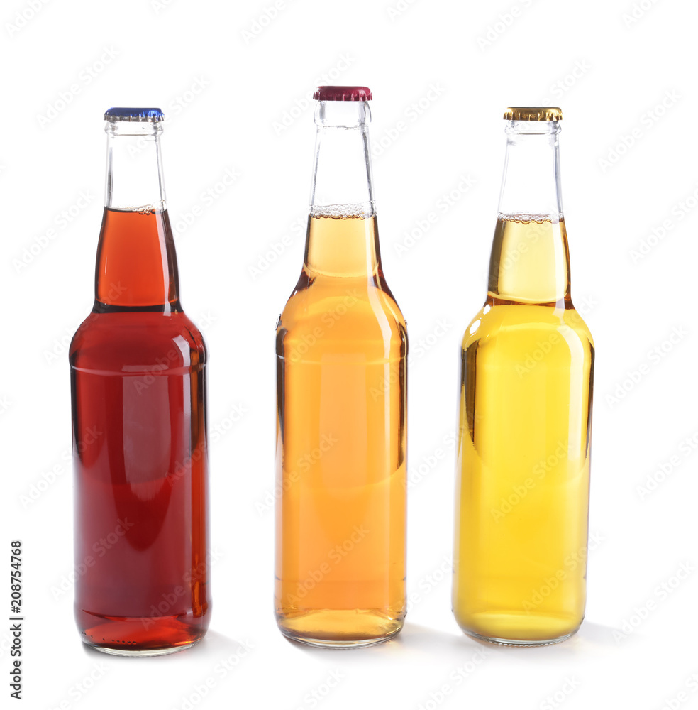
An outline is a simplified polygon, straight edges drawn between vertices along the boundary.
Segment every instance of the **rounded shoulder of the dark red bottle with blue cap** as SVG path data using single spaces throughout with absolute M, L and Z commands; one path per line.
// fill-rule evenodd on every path
M 69 351 L 76 368 L 115 373 L 203 366 L 206 343 L 184 312 L 95 312 L 75 332 Z

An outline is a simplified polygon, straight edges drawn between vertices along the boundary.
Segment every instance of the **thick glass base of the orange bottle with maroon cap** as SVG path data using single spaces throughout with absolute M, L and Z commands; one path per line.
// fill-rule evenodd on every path
M 281 633 L 320 648 L 365 648 L 393 638 L 404 619 L 365 609 L 315 609 L 277 614 Z

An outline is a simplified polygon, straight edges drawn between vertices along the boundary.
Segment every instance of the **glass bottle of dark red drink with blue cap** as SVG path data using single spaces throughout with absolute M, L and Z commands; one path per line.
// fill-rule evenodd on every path
M 206 633 L 206 347 L 179 303 L 160 109 L 109 109 L 92 313 L 70 346 L 75 616 L 117 655 Z

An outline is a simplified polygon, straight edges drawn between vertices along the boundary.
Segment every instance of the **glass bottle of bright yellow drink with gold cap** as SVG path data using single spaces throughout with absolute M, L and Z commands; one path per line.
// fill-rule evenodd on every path
M 594 344 L 570 297 L 555 108 L 510 108 L 484 307 L 462 342 L 453 611 L 563 640 L 586 597 Z

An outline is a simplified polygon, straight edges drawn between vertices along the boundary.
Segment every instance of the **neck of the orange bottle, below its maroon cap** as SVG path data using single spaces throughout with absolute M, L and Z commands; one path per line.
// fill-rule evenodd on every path
M 306 239 L 306 268 L 326 276 L 377 273 L 378 231 L 365 101 L 321 101 Z

